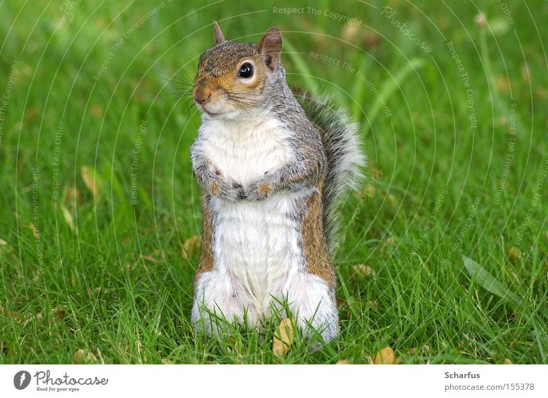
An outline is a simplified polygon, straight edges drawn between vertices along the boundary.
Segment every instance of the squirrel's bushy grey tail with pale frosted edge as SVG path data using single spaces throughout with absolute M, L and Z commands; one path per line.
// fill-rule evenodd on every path
M 340 219 L 338 203 L 343 199 L 343 193 L 362 185 L 366 156 L 357 135 L 358 124 L 351 121 L 345 110 L 336 107 L 327 96 L 312 97 L 301 91 L 296 97 L 320 132 L 327 156 L 327 178 L 322 192 L 323 227 L 332 253 Z

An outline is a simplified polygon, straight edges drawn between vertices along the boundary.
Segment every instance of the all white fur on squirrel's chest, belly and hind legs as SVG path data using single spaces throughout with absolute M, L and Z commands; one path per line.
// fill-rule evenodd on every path
M 274 120 L 210 120 L 201 126 L 197 145 L 216 171 L 247 188 L 265 172 L 273 173 L 292 161 L 288 136 Z M 200 321 L 204 308 L 229 321 L 258 325 L 269 316 L 271 306 L 287 301 L 301 329 L 312 324 L 323 331 L 325 340 L 336 335 L 334 296 L 323 279 L 306 271 L 301 247 L 297 215 L 303 210 L 301 199 L 315 190 L 277 192 L 263 201 L 235 203 L 212 197 L 214 264 L 197 279 L 192 307 L 197 325 L 219 332 L 212 318 Z

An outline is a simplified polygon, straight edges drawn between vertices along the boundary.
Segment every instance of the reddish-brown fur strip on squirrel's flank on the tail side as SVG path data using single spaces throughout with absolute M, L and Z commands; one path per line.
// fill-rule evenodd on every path
M 308 272 L 324 279 L 329 286 L 334 286 L 336 281 L 335 271 L 329 253 L 327 253 L 322 223 L 322 202 L 319 192 L 308 198 L 306 209 L 301 223 L 306 269 Z

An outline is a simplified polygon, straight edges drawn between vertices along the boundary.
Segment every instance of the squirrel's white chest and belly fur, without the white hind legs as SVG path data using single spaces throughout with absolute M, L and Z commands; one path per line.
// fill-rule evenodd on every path
M 273 120 L 211 121 L 202 126 L 202 133 L 208 160 L 223 177 L 244 188 L 290 161 L 286 134 Z M 227 287 L 239 297 L 238 303 L 247 303 L 250 316 L 267 312 L 271 296 L 285 295 L 285 286 L 305 266 L 295 217 L 297 201 L 304 195 L 310 190 L 278 192 L 251 202 L 212 197 L 214 272 L 229 281 Z

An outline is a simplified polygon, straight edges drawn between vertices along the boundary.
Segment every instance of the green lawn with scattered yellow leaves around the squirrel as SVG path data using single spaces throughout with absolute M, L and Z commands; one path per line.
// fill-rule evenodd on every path
M 275 320 L 264 336 L 220 340 L 189 322 L 199 251 L 182 248 L 201 232 L 188 153 L 199 115 L 175 93 L 215 18 L 230 39 L 280 27 L 290 84 L 349 108 L 370 158 L 343 208 L 340 336 L 313 353 L 297 339 L 282 362 L 367 363 L 390 345 L 403 363 L 546 363 L 548 5 L 508 1 L 513 24 L 497 2 L 481 5 L 479 27 L 468 1 L 392 1 L 390 18 L 371 3 L 303 2 L 357 18 L 353 30 L 274 13 L 285 0 L 82 1 L 66 13 L 1 3 L 0 362 L 71 363 L 77 349 L 105 363 L 277 362 Z M 95 170 L 95 198 L 82 167 Z

